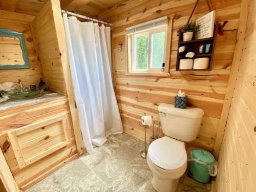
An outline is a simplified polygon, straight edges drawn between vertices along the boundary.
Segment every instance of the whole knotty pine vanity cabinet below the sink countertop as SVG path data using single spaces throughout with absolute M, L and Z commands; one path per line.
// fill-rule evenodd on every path
M 0 147 L 20 189 L 78 157 L 67 96 L 0 111 Z

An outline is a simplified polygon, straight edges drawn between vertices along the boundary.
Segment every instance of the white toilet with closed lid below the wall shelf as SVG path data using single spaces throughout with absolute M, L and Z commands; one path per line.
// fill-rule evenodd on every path
M 153 172 L 153 187 L 158 192 L 174 192 L 187 167 L 185 142 L 197 137 L 204 111 L 165 103 L 158 111 L 165 136 L 150 144 L 146 159 Z

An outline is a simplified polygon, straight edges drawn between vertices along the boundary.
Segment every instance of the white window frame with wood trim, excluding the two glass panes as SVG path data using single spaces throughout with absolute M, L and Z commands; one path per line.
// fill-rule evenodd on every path
M 157 26 L 155 28 L 147 29 L 144 31 L 135 32 L 132 34 L 126 35 L 126 42 L 127 42 L 127 73 L 126 75 L 164 75 L 169 76 L 169 59 L 170 59 L 170 45 L 171 45 L 171 38 L 172 38 L 172 19 L 167 17 L 168 23 L 167 25 Z M 161 68 L 151 68 L 151 60 L 152 60 L 152 34 L 165 32 L 165 45 L 164 45 L 164 59 L 163 62 L 165 63 L 164 71 Z M 135 52 L 134 49 L 135 45 L 135 37 L 148 34 L 148 58 L 147 58 L 147 70 L 137 70 L 135 65 Z

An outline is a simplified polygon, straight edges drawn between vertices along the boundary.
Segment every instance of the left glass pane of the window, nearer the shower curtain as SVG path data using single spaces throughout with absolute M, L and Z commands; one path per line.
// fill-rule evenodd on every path
M 135 70 L 147 70 L 148 34 L 135 36 Z

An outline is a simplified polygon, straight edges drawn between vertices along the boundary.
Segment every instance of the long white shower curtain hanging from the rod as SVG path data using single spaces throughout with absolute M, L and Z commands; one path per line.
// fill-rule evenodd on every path
M 110 27 L 63 14 L 79 124 L 87 152 L 123 127 L 111 75 Z

